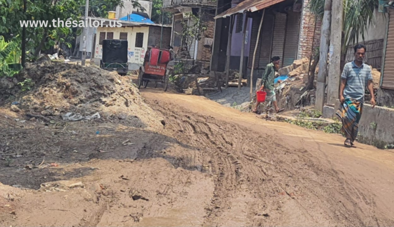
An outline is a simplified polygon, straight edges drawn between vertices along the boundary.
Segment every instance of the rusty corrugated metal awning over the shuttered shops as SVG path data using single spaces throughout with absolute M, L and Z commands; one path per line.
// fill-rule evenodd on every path
M 235 13 L 255 12 L 275 5 L 277 3 L 284 2 L 285 0 L 245 0 L 237 6 L 224 11 L 223 13 L 215 16 L 215 19 L 225 18 Z

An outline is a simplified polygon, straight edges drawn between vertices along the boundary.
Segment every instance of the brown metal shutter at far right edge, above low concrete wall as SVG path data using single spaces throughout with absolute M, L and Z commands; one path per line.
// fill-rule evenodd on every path
M 394 10 L 389 11 L 382 88 L 394 89 Z

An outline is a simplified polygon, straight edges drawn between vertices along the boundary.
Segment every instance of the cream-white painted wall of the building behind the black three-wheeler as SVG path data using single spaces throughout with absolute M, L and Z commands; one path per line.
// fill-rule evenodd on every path
M 145 51 L 148 47 L 149 27 L 97 28 L 96 47 L 94 50 L 95 64 L 100 64 L 100 59 L 103 57 L 103 46 L 99 43 L 100 32 L 113 32 L 114 39 L 119 39 L 121 32 L 127 32 L 129 69 L 137 70 L 142 66 L 144 63 Z M 135 37 L 137 32 L 144 33 L 142 48 L 135 47 Z

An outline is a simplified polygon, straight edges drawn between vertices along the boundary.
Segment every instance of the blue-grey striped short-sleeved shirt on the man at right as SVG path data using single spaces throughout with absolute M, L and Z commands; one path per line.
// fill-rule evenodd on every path
M 371 67 L 364 64 L 358 67 L 354 61 L 347 63 L 343 68 L 342 79 L 346 79 L 343 96 L 345 98 L 354 98 L 364 103 L 365 89 L 368 80 L 372 80 Z

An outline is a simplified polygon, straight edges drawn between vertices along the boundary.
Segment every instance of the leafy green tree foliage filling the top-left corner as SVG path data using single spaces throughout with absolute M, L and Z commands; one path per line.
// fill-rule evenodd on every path
M 129 0 L 134 8 L 145 9 L 137 0 Z M 122 0 L 91 0 L 90 15 L 105 17 L 108 11 L 119 5 Z M 22 53 L 31 52 L 33 59 L 42 50 L 51 48 L 56 42 L 71 46 L 76 29 L 63 27 L 22 28 L 20 20 L 80 20 L 85 10 L 85 0 L 0 0 L 0 35 L 6 41 L 16 40 L 22 46 Z M 22 34 L 22 35 L 21 35 Z M 24 63 L 22 54 L 22 63 Z

